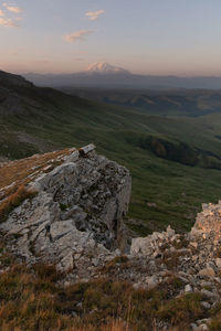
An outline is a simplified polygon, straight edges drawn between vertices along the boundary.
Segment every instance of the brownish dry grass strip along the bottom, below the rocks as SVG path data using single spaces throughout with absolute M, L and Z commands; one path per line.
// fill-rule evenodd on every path
M 110 279 L 63 288 L 57 286 L 63 275 L 53 266 L 7 265 L 0 275 L 0 330 L 158 331 L 158 322 L 167 321 L 185 331 L 204 317 L 199 295 L 171 299 L 171 289 L 179 287 L 173 278 L 151 290 Z

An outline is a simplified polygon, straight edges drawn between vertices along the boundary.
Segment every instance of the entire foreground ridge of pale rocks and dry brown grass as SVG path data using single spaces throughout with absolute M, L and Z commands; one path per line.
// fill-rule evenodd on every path
M 2 330 L 220 330 L 221 202 L 134 237 L 130 189 L 92 143 L 0 167 Z

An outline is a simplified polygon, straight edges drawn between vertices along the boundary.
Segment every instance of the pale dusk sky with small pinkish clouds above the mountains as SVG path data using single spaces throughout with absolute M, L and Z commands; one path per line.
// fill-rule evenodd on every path
M 0 0 L 0 70 L 221 75 L 220 0 Z

